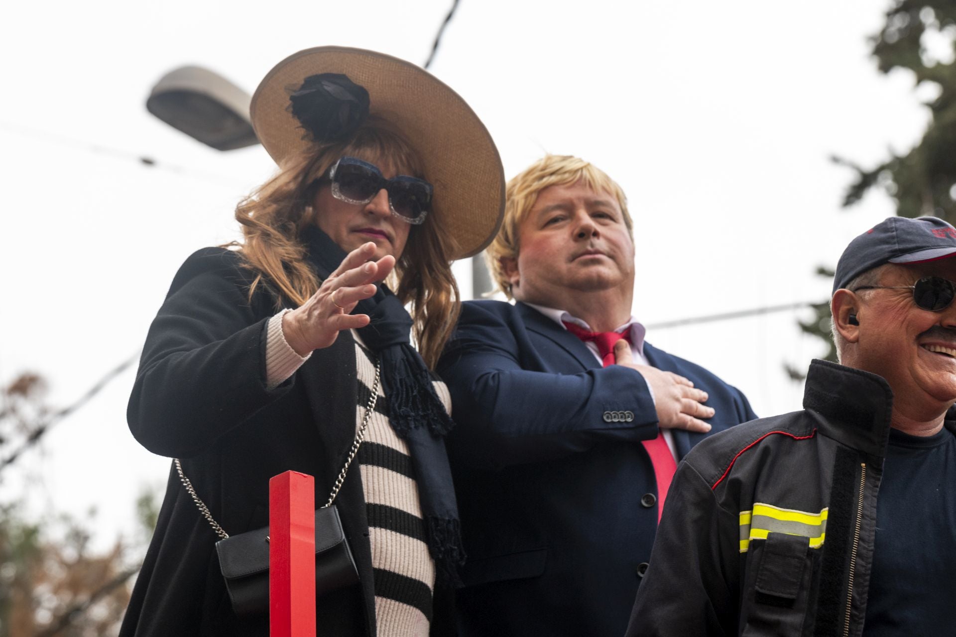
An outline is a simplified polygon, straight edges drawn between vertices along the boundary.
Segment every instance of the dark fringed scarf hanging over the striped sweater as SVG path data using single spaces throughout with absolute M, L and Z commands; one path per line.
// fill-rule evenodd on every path
M 309 261 L 322 279 L 345 259 L 345 251 L 315 226 L 303 231 Z M 454 426 L 435 388 L 431 373 L 410 342 L 412 317 L 383 283 L 375 296 L 359 301 L 355 312 L 371 322 L 359 328 L 365 345 L 380 357 L 381 383 L 395 433 L 411 452 L 426 528 L 426 543 L 437 570 L 451 585 L 459 584 L 458 566 L 465 562 L 458 506 L 445 454 L 444 436 Z

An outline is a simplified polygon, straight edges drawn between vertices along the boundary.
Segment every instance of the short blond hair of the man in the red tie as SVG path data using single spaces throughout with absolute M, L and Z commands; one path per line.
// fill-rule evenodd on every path
M 511 283 L 501 265 L 503 258 L 518 256 L 518 227 L 531 212 L 538 194 L 545 188 L 583 181 L 597 192 L 607 192 L 618 200 L 627 230 L 634 238 L 634 224 L 627 212 L 627 198 L 620 186 L 597 166 L 571 155 L 546 155 L 524 172 L 511 178 L 505 190 L 505 220 L 501 230 L 485 250 L 491 278 L 498 289 L 511 299 Z

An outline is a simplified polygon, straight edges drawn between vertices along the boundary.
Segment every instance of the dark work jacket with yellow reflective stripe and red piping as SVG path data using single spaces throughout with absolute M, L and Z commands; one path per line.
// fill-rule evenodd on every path
M 858 637 L 892 405 L 880 376 L 816 360 L 803 411 L 696 447 L 627 634 Z

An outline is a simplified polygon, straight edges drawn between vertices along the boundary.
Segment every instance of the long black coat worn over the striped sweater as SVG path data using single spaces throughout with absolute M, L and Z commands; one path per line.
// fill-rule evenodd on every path
M 127 412 L 146 449 L 182 459 L 186 477 L 230 535 L 269 524 L 269 479 L 282 472 L 314 476 L 316 506 L 328 499 L 355 436 L 357 405 L 355 341 L 348 331 L 315 350 L 289 380 L 266 388 L 263 331 L 275 299 L 257 291 L 250 302 L 250 272 L 238 264 L 236 254 L 219 248 L 186 260 L 149 329 Z M 318 631 L 374 635 L 357 465 L 336 502 L 361 582 L 318 601 Z M 120 635 L 266 637 L 266 617 L 240 619 L 232 612 L 217 540 L 171 468 Z

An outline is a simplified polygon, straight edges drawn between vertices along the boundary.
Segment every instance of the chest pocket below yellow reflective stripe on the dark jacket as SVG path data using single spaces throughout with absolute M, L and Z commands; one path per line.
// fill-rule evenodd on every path
M 750 541 L 740 623 L 743 637 L 799 637 L 803 633 L 814 551 L 810 539 L 770 533 Z

